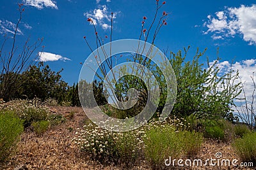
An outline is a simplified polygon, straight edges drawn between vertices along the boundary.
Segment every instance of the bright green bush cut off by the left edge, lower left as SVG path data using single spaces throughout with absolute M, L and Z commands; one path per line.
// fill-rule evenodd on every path
M 22 120 L 13 111 L 0 112 L 0 162 L 12 153 L 22 131 Z

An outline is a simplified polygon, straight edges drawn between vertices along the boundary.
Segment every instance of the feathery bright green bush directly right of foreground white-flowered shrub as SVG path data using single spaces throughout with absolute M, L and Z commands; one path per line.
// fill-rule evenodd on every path
M 164 167 L 164 160 L 172 157 L 195 157 L 202 145 L 203 136 L 196 132 L 174 130 L 170 125 L 152 127 L 145 132 L 145 157 L 153 169 Z

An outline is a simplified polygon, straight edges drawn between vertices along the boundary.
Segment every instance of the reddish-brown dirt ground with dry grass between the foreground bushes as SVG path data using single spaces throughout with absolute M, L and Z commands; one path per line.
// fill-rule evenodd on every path
M 115 166 L 102 166 L 99 162 L 92 161 L 79 152 L 76 145 L 71 142 L 77 128 L 84 125 L 86 114 L 82 108 L 77 107 L 50 107 L 53 113 L 61 113 L 66 121 L 56 127 L 52 127 L 43 136 L 36 136 L 28 131 L 22 134 L 15 154 L 0 169 L 19 169 L 24 166 L 28 169 L 123 169 Z M 90 111 L 90 110 L 88 110 Z M 74 118 L 68 117 L 74 112 Z M 227 143 L 220 141 L 205 141 L 202 151 L 197 159 L 216 159 L 215 154 L 222 153 L 221 159 L 238 159 L 236 153 Z M 145 160 L 138 161 L 139 165 L 132 169 L 151 169 Z M 21 170 L 22 168 L 20 168 Z M 25 168 L 26 169 L 26 168 Z M 189 169 L 188 167 L 175 167 L 170 169 Z M 190 169 L 250 169 L 246 167 L 228 166 L 202 166 Z M 252 169 L 252 168 L 251 168 Z M 254 169 L 254 168 L 253 168 Z

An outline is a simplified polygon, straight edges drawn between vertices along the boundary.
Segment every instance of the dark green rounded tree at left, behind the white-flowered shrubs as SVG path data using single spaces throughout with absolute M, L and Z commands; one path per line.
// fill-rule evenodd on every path
M 39 62 L 38 66 L 30 66 L 27 71 L 20 74 L 22 85 L 19 88 L 17 98 L 26 95 L 28 99 L 39 97 L 42 101 L 54 98 L 61 101 L 67 99 L 68 84 L 61 79 L 61 69 L 58 72 L 52 71 L 44 62 Z

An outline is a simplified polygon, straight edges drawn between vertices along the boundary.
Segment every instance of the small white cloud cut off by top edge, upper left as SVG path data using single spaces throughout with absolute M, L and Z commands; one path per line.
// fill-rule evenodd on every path
M 56 5 L 56 1 L 52 0 L 23 0 L 23 3 L 27 6 L 34 6 L 38 10 L 46 8 L 55 8 L 58 10 L 58 6 Z

